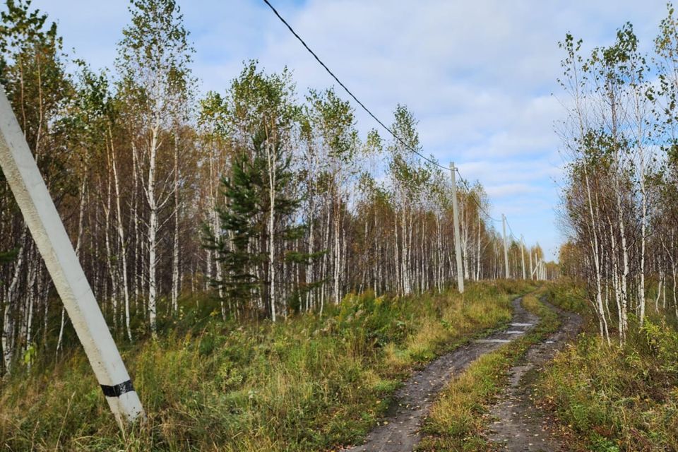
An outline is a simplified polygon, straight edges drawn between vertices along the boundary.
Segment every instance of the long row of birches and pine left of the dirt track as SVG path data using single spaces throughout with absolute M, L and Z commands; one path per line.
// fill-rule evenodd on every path
M 449 285 L 450 175 L 408 150 L 420 137 L 407 107 L 393 113 L 400 140 L 361 139 L 333 89 L 299 95 L 290 71 L 256 61 L 198 95 L 175 1 L 130 12 L 102 71 L 69 57 L 29 1 L 6 1 L 0 27 L 0 81 L 114 337 L 155 335 L 198 296 L 215 318 L 276 321 L 350 292 Z M 457 189 L 464 277 L 504 278 L 487 194 Z M 556 275 L 537 272 L 543 260 L 511 239 L 514 278 Z M 0 313 L 5 374 L 73 335 L 1 173 Z

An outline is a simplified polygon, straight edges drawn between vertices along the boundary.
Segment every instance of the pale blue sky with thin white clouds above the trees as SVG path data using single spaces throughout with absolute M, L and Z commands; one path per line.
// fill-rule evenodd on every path
M 390 124 L 396 105 L 419 120 L 425 154 L 479 180 L 516 237 L 557 258 L 564 158 L 554 124 L 565 115 L 557 78 L 566 32 L 585 48 L 634 25 L 651 50 L 665 0 L 270 0 L 357 97 Z M 196 53 L 200 90 L 224 92 L 257 59 L 292 70 L 297 91 L 333 80 L 261 0 L 177 0 Z M 112 67 L 126 0 L 33 0 L 59 25 L 64 48 Z M 340 87 L 335 87 L 338 91 Z M 345 96 L 347 97 L 347 96 Z M 356 109 L 359 107 L 355 105 Z M 362 136 L 378 125 L 357 110 Z M 386 132 L 382 131 L 382 136 Z M 501 231 L 501 222 L 495 223 Z

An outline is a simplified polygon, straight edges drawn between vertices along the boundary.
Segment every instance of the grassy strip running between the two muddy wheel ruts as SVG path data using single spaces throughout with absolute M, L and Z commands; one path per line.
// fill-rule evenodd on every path
M 540 316 L 540 323 L 523 337 L 478 358 L 446 386 L 424 422 L 424 439 L 417 451 L 493 450 L 482 433 L 490 421 L 490 406 L 509 382 L 509 370 L 531 345 L 560 325 L 557 314 L 535 294 L 523 297 L 523 307 Z

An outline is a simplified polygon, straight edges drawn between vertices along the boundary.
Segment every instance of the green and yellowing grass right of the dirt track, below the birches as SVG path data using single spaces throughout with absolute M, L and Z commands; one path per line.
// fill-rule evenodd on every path
M 583 302 L 571 285 L 551 293 L 559 304 Z M 641 331 L 631 328 L 626 344 L 608 346 L 591 329 L 555 357 L 538 385 L 567 436 L 579 439 L 570 448 L 677 451 L 678 332 L 650 319 Z

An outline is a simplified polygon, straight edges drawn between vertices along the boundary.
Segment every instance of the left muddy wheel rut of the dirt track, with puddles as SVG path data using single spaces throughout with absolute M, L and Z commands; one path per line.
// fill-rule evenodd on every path
M 453 352 L 442 355 L 421 369 L 415 371 L 410 379 L 396 391 L 396 403 L 393 404 L 384 422 L 373 429 L 364 444 L 345 448 L 348 452 L 409 452 L 421 440 L 419 429 L 438 393 L 450 381 L 453 374 L 466 369 L 481 355 L 492 352 L 501 345 L 511 342 L 528 331 L 539 321 L 535 314 L 525 310 L 522 298 L 514 299 L 511 304 L 513 316 L 511 326 L 487 338 L 473 340 Z

